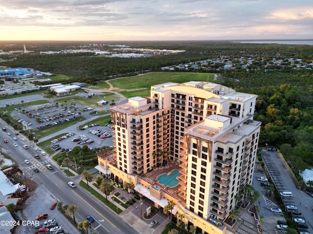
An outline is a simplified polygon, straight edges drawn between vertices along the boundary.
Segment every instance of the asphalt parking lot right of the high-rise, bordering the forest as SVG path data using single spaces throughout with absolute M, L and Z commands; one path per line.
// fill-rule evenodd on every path
M 291 221 L 295 224 L 295 227 L 300 231 L 311 232 L 313 230 L 312 220 L 309 217 L 312 217 L 312 206 L 313 206 L 313 197 L 307 195 L 297 188 L 292 176 L 289 171 L 286 169 L 284 163 L 278 156 L 276 152 L 262 151 L 261 156 L 265 163 L 265 167 L 268 171 L 268 178 L 270 177 L 274 186 L 277 188 L 278 192 L 289 191 L 292 193 L 292 196 L 281 196 L 284 207 L 281 209 L 290 215 Z M 255 171 L 255 176 L 264 176 L 262 172 Z M 260 181 L 253 182 L 253 186 L 262 191 L 264 187 L 261 187 Z M 270 211 L 271 208 L 280 208 L 273 201 L 268 199 L 268 196 L 261 193 L 261 198 L 259 198 L 258 205 L 261 207 L 260 215 L 263 215 L 263 229 L 268 233 L 274 233 L 276 229 L 285 230 L 286 227 L 278 227 L 278 220 L 285 220 L 285 217 L 281 212 Z M 310 208 L 310 209 L 308 209 Z M 302 218 L 305 220 L 305 224 L 295 222 L 298 220 L 296 218 Z

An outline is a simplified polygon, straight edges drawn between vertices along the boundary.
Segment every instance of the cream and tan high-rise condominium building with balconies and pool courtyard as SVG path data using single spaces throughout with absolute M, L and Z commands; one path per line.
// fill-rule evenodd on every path
M 235 197 L 252 182 L 261 125 L 253 120 L 256 98 L 209 82 L 154 85 L 150 97 L 110 107 L 116 157 L 99 157 L 99 165 L 158 206 L 173 200 L 173 213 L 184 214 L 197 233 L 224 233 Z

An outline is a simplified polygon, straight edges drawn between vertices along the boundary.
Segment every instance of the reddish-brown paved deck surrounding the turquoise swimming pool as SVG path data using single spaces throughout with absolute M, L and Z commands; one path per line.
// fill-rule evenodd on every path
M 176 162 L 174 160 L 169 160 L 169 167 L 158 167 L 154 169 L 152 172 L 149 172 L 146 175 L 144 175 L 144 177 L 141 177 L 141 176 L 139 177 L 145 180 L 146 182 L 148 182 L 149 184 L 151 184 L 151 186 L 155 184 L 158 187 L 160 187 L 163 192 L 173 197 L 177 197 L 179 199 L 179 197 L 176 195 L 176 190 L 179 184 L 177 184 L 177 186 L 173 188 L 170 188 L 168 186 L 163 186 L 162 184 L 160 184 L 157 179 L 158 176 L 162 174 L 167 174 L 173 170 L 178 170 L 178 171 L 180 170 L 179 162 Z

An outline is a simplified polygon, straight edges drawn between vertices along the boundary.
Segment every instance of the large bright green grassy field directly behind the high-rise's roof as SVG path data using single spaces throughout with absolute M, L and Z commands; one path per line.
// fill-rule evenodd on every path
M 156 84 L 166 82 L 184 83 L 188 81 L 213 81 L 214 74 L 211 73 L 170 73 L 170 72 L 155 72 L 135 77 L 126 77 L 110 80 L 109 82 L 114 88 L 123 89 L 119 93 L 126 98 L 135 96 L 150 95 L 150 87 Z

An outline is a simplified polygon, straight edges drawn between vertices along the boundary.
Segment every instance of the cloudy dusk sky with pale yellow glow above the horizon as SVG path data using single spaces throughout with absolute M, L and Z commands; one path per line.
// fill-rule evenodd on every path
M 313 39 L 313 0 L 1 0 L 0 40 Z

